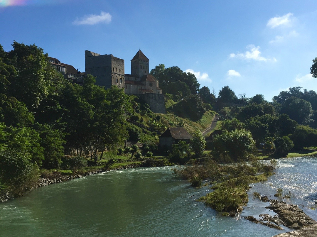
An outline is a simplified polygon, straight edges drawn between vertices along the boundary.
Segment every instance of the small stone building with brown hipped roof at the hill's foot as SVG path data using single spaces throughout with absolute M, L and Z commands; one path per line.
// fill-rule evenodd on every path
M 191 134 L 184 128 L 168 128 L 159 136 L 159 145 L 161 147 L 166 145 L 171 148 L 173 144 L 177 144 L 179 141 L 189 143 L 191 138 Z

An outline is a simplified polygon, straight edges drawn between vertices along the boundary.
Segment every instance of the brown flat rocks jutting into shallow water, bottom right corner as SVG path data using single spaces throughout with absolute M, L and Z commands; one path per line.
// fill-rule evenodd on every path
M 262 200 L 267 200 L 266 198 L 261 198 Z M 270 206 L 266 207 L 276 213 L 276 215 L 271 216 L 268 214 L 260 214 L 259 219 L 253 216 L 247 216 L 245 219 L 259 223 L 262 225 L 266 225 L 268 227 L 283 229 L 281 225 L 292 228 L 292 229 L 300 229 L 302 227 L 316 228 L 317 222 L 314 221 L 310 216 L 306 215 L 301 208 L 297 205 L 287 204 L 286 202 L 278 201 L 278 200 L 267 200 L 270 203 Z M 280 235 L 278 235 L 280 236 Z M 287 236 L 287 235 L 285 235 Z M 293 235 L 291 235 L 293 236 Z M 301 235 L 300 235 L 301 236 Z M 313 235 L 317 236 L 317 234 Z

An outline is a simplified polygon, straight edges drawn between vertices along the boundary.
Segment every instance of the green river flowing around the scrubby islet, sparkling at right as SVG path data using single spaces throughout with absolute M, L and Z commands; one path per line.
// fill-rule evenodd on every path
M 278 160 L 267 182 L 252 185 L 242 218 L 222 216 L 196 199 L 210 189 L 192 188 L 172 175 L 171 167 L 135 168 L 86 176 L 36 189 L 0 204 L 0 236 L 273 236 L 272 229 L 243 216 L 268 213 L 259 192 L 273 198 L 277 188 L 285 200 L 300 205 L 317 220 L 317 159 Z

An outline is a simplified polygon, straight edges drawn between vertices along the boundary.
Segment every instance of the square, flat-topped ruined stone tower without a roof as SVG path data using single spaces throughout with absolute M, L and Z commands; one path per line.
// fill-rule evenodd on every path
M 112 85 L 125 88 L 124 60 L 114 57 L 112 54 L 97 54 L 85 50 L 86 75 L 96 77 L 96 85 L 106 89 Z

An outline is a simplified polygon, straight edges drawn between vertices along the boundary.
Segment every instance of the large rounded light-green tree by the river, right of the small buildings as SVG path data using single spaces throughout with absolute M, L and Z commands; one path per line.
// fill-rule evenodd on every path
M 222 156 L 228 154 L 234 161 L 248 160 L 256 149 L 251 132 L 245 129 L 225 130 L 221 135 L 216 135 L 212 143 L 214 153 Z

